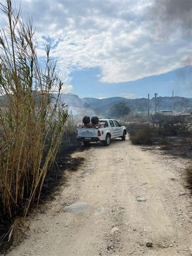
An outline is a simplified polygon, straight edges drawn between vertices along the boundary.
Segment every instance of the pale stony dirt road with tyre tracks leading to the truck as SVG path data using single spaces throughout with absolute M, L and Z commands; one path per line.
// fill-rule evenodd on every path
M 185 192 L 179 159 L 128 139 L 92 144 L 72 157 L 85 161 L 66 174 L 59 196 L 9 256 L 191 255 L 190 196 L 179 196 Z

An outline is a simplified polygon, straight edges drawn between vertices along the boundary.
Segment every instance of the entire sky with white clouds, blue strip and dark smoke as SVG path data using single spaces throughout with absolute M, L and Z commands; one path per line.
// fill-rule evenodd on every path
M 19 0 L 15 1 L 16 4 Z M 38 56 L 52 42 L 64 92 L 192 97 L 191 0 L 22 0 Z

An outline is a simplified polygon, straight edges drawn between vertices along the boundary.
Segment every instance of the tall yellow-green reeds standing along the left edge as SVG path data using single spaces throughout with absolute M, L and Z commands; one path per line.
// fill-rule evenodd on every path
M 0 220 L 26 217 L 38 205 L 47 172 L 55 161 L 68 119 L 60 99 L 62 82 L 49 58 L 42 68 L 33 41 L 32 19 L 21 7 L 1 4 L 6 17 L 0 35 Z

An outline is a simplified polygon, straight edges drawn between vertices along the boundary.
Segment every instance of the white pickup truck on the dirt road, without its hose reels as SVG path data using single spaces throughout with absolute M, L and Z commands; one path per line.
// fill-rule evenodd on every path
M 84 145 L 88 145 L 92 141 L 101 141 L 104 146 L 109 146 L 111 139 L 122 138 L 122 141 L 126 139 L 126 128 L 122 124 L 119 124 L 114 119 L 99 119 L 97 127 L 92 128 L 78 128 L 77 140 L 82 141 Z

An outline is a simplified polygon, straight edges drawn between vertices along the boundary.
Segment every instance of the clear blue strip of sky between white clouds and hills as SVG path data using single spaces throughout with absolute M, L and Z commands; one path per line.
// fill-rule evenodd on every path
M 179 74 L 183 74 L 184 78 Z M 71 92 L 79 95 L 79 97 L 97 97 L 108 98 L 122 96 L 126 98 L 154 97 L 154 93 L 158 96 L 172 96 L 174 90 L 175 96 L 192 97 L 192 90 L 187 87 L 191 81 L 191 67 L 179 68 L 171 72 L 145 77 L 137 81 L 124 83 L 101 83 L 98 81 L 97 75 L 100 74 L 98 68 L 90 68 L 88 70 L 78 70 L 71 73 L 73 77 L 73 90 Z M 83 85 L 83 86 L 82 86 Z M 186 89 L 186 90 L 185 90 Z

